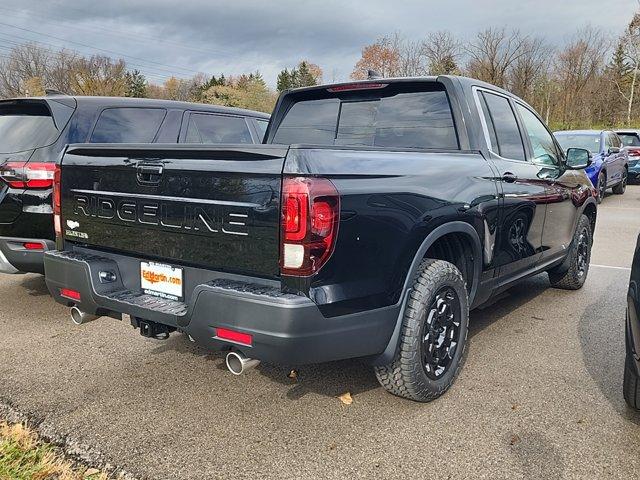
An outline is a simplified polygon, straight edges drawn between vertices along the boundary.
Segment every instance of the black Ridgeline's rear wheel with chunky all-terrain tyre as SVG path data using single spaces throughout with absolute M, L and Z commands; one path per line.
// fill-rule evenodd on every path
M 376 366 L 390 393 L 418 402 L 436 399 L 460 371 L 467 341 L 469 299 L 462 274 L 443 260 L 424 260 L 405 307 L 391 363 Z

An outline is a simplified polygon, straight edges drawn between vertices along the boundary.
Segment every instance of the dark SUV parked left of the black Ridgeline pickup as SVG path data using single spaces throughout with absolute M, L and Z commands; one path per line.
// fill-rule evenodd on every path
M 0 272 L 44 273 L 55 163 L 69 143 L 260 143 L 269 115 L 169 100 L 48 95 L 0 101 Z

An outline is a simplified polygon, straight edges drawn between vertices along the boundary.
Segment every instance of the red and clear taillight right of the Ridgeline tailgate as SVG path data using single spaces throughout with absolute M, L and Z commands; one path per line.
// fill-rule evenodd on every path
M 326 178 L 285 177 L 281 208 L 280 271 L 284 275 L 313 275 L 333 253 L 340 195 Z

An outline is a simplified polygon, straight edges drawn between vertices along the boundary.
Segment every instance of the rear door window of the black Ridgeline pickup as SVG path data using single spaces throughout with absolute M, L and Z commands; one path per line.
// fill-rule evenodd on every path
M 495 128 L 498 152 L 501 157 L 513 160 L 525 160 L 524 145 L 520 129 L 509 100 L 500 95 L 482 92 L 489 116 Z

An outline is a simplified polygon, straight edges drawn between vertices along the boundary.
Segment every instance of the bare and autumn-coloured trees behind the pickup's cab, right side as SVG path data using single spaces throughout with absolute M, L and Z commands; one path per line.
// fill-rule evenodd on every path
M 519 30 L 487 28 L 462 42 L 448 31 L 407 40 L 400 33 L 362 49 L 351 74 L 466 75 L 513 92 L 554 129 L 640 126 L 640 13 L 615 39 L 591 26 L 562 47 Z

